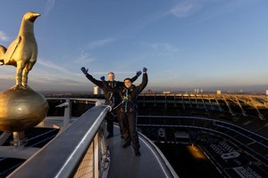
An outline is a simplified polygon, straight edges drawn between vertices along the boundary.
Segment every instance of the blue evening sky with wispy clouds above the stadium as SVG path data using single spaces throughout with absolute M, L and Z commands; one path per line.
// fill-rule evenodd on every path
M 41 14 L 36 91 L 93 92 L 81 67 L 119 81 L 146 67 L 153 91 L 268 89 L 267 0 L 2 0 L 0 44 L 13 42 L 29 11 Z M 0 66 L 0 92 L 15 73 Z

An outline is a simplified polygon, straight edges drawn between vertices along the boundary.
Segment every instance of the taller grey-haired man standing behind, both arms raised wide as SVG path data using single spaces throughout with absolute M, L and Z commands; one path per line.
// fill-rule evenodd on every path
M 110 104 L 111 102 L 114 103 L 113 105 L 113 109 L 115 109 L 116 115 L 117 115 L 117 121 L 118 123 L 121 123 L 118 117 L 118 112 L 119 112 L 119 107 L 118 105 L 121 102 L 121 98 L 119 96 L 118 93 L 113 93 L 111 91 L 108 91 L 107 89 L 105 89 L 104 87 L 104 83 L 103 81 L 105 81 L 105 77 L 101 77 L 101 80 L 96 80 L 96 78 L 92 77 L 90 74 L 88 74 L 88 69 L 86 69 L 85 67 L 81 68 L 81 71 L 86 75 L 86 77 L 88 78 L 88 80 L 90 80 L 93 84 L 97 85 L 98 87 L 100 87 L 104 93 L 105 93 L 105 102 L 107 102 L 107 104 Z M 131 78 L 131 81 L 134 82 L 137 80 L 138 76 L 141 75 L 141 71 L 137 71 L 136 76 Z M 109 85 L 109 87 L 115 89 L 117 87 L 121 87 L 123 86 L 123 82 L 121 81 L 115 81 L 114 80 L 114 74 L 113 72 L 109 72 L 107 74 L 108 77 L 108 81 L 105 81 L 105 83 L 107 85 Z M 113 110 L 111 112 L 109 112 L 106 116 L 106 120 L 107 120 L 107 139 L 110 139 L 113 137 L 113 120 L 114 120 L 114 115 L 113 115 Z M 120 125 L 120 124 L 119 124 Z M 120 130 L 121 130 L 121 126 L 120 126 Z

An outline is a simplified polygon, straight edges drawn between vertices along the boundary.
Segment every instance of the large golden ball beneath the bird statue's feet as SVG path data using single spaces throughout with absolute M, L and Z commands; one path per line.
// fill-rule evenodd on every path
M 0 93 L 0 131 L 21 132 L 46 117 L 46 98 L 33 90 L 13 87 Z

